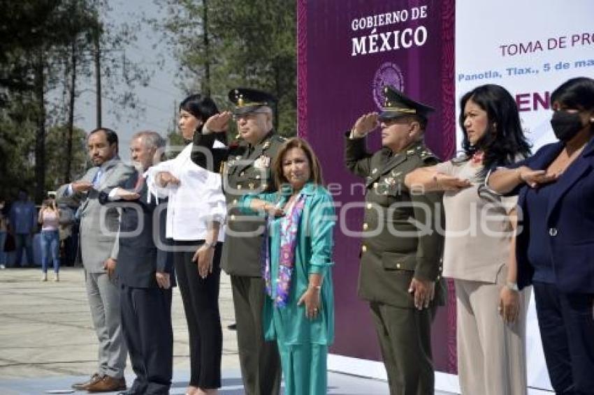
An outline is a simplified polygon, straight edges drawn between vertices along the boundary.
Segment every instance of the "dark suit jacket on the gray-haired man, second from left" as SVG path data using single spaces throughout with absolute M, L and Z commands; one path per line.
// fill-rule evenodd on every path
M 133 190 L 138 180 L 138 173 L 130 177 L 125 189 Z M 119 223 L 119 253 L 115 273 L 118 281 L 136 288 L 156 288 L 156 271 L 163 271 L 170 274 L 172 286 L 175 285 L 173 273 L 173 260 L 171 253 L 164 248 L 157 248 L 155 241 L 167 245 L 165 240 L 165 218 L 166 209 L 161 204 L 157 207 L 154 199 L 147 203 L 147 186 L 143 185 L 138 200 L 124 201 L 117 200 L 109 202 L 108 193 L 103 191 L 99 195 L 101 204 L 110 204 L 122 209 L 122 217 Z M 155 216 L 158 216 L 155 223 Z M 157 225 L 157 226 L 155 226 Z

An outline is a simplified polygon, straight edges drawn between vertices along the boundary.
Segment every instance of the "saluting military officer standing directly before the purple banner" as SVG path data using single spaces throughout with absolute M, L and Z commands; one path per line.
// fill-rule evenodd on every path
M 345 163 L 366 186 L 358 295 L 370 305 L 390 394 L 433 394 L 430 326 L 444 298 L 441 195 L 404 185 L 408 172 L 438 162 L 423 142 L 433 108 L 389 86 L 384 98 L 383 111 L 361 116 L 345 138 Z M 363 137 L 377 126 L 383 148 L 369 154 Z

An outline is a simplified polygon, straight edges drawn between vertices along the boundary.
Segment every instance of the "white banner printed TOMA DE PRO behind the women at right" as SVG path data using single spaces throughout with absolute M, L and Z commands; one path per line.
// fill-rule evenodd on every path
M 572 77 L 594 76 L 594 1 L 456 0 L 456 116 L 482 84 L 516 98 L 533 151 L 556 141 L 550 94 Z M 456 131 L 457 147 L 461 130 Z M 528 385 L 551 389 L 534 301 L 528 312 Z

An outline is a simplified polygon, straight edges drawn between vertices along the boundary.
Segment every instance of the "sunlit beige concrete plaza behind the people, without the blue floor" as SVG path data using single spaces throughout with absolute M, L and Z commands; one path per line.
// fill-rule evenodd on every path
M 90 375 L 96 371 L 97 341 L 84 273 L 60 271 L 60 282 L 42 283 L 41 270 L 0 271 L 0 380 Z M 222 276 L 219 298 L 223 323 L 223 369 L 239 369 L 229 277 Z M 188 331 L 182 299 L 173 291 L 173 370 L 189 370 Z M 126 374 L 131 368 L 126 368 Z

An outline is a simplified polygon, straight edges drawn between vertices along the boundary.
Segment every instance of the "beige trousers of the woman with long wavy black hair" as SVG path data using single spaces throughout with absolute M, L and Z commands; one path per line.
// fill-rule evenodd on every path
M 531 288 L 520 295 L 519 318 L 505 324 L 498 312 L 498 284 L 454 280 L 458 378 L 463 395 L 526 395 L 526 311 Z

